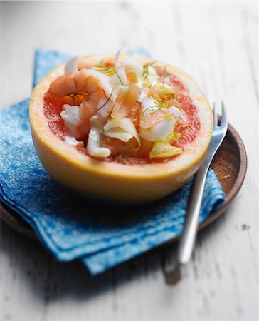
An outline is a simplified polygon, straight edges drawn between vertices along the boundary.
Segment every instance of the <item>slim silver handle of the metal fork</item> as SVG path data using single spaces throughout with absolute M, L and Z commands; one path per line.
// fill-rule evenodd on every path
M 184 230 L 179 241 L 178 263 L 181 265 L 186 265 L 189 262 L 194 248 L 207 174 L 208 166 L 201 165 L 194 175 L 191 185 Z

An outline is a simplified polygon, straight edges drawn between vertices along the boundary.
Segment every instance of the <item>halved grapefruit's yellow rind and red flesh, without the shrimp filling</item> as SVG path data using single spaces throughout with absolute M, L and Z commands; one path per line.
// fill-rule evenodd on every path
M 88 66 L 87 68 L 100 66 L 100 61 L 103 63 L 103 61 L 111 61 L 112 58 L 113 55 L 109 54 L 85 56 L 80 58 L 78 66 Z M 130 55 L 121 55 L 120 61 L 123 63 L 130 58 L 132 58 Z M 156 77 L 152 74 L 154 70 L 159 82 L 166 84 L 164 86 L 166 90 L 160 90 L 161 88 L 158 88 L 158 91 L 156 90 L 156 95 L 159 96 L 156 99 L 161 98 L 159 113 L 157 113 L 157 117 L 154 116 L 153 120 L 152 113 L 155 114 L 156 111 L 149 113 L 147 115 L 149 123 L 154 121 L 154 124 L 157 124 L 157 122 L 167 119 L 168 116 L 171 117 L 171 114 L 167 111 L 164 114 L 162 113 L 163 108 L 171 106 L 168 105 L 169 103 L 173 103 L 176 109 L 181 106 L 183 117 L 174 124 L 176 138 L 168 135 L 167 138 L 159 138 L 161 145 L 159 145 L 159 139 L 154 142 L 150 138 L 150 141 L 149 133 L 144 132 L 150 128 L 140 128 L 140 124 L 144 121 L 143 111 L 145 110 L 142 108 L 142 113 L 137 114 L 141 105 L 139 101 L 132 101 L 132 109 L 129 108 L 129 104 L 126 106 L 127 108 L 123 108 L 117 103 L 115 111 L 127 114 L 126 117 L 129 121 L 132 121 L 137 130 L 137 136 L 140 136 L 139 140 L 129 144 L 120 141 L 124 138 L 117 139 L 112 136 L 114 132 L 112 135 L 110 134 L 110 137 L 108 135 L 103 136 L 103 133 L 100 133 L 102 148 L 106 150 L 110 144 L 110 156 L 106 158 L 93 157 L 88 153 L 86 147 L 89 126 L 85 125 L 85 128 L 88 128 L 88 133 L 85 132 L 85 136 L 82 136 L 82 138 L 78 138 L 80 136 L 78 134 L 75 137 L 78 143 L 71 144 L 68 139 L 65 139 L 66 136 L 70 137 L 70 134 L 68 135 L 69 128 L 65 127 L 64 119 L 61 117 L 64 106 L 74 105 L 79 108 L 82 97 L 84 94 L 88 95 L 88 93 L 80 92 L 73 97 L 71 95 L 50 97 L 46 94 L 49 93 L 51 83 L 64 75 L 65 64 L 48 73 L 34 88 L 30 103 L 33 143 L 44 168 L 62 185 L 100 200 L 132 204 L 147 203 L 174 192 L 181 185 L 184 185 L 199 168 L 211 139 L 213 124 L 211 106 L 206 97 L 199 86 L 186 73 L 174 66 L 169 66 L 161 61 L 154 63 L 153 60 L 142 56 L 137 57 L 137 60 L 144 66 L 143 75 L 145 73 L 145 76 L 142 78 L 142 84 L 147 81 L 149 71 L 153 77 L 150 77 L 150 83 L 154 84 L 154 77 Z M 103 65 L 107 66 L 105 63 Z M 157 68 L 151 70 L 149 67 L 153 66 L 157 66 Z M 135 77 L 132 77 L 132 70 L 127 66 L 127 73 L 131 77 L 129 83 L 123 83 L 123 86 L 132 88 L 132 83 L 136 82 L 134 78 L 137 79 L 137 71 Z M 114 76 L 114 73 L 110 73 L 108 76 L 111 78 L 112 74 Z M 172 88 L 172 93 L 169 86 Z M 130 90 L 125 90 L 125 92 L 130 92 Z M 134 88 L 134 95 L 136 95 L 136 88 Z M 152 96 L 151 99 L 153 99 Z M 123 101 L 125 100 L 122 98 L 122 91 L 120 91 L 120 103 Z M 161 102 L 164 103 L 163 106 L 160 105 Z M 88 101 L 88 103 L 91 103 L 91 101 Z M 150 107 L 148 108 L 150 110 Z M 93 111 L 92 108 L 89 112 L 92 113 L 91 116 L 95 114 L 96 110 Z M 122 128 L 119 129 L 122 131 Z M 142 136 L 141 130 L 144 133 Z M 73 138 L 74 142 L 75 138 Z M 174 139 L 174 141 L 170 141 L 171 139 Z M 154 145 L 157 148 L 156 150 L 163 150 L 158 158 L 154 156 L 154 150 L 152 150 Z M 168 154 L 167 151 L 171 153 L 174 148 L 178 152 L 170 156 L 171 154 Z M 149 157 L 151 150 L 153 151 L 152 157 Z

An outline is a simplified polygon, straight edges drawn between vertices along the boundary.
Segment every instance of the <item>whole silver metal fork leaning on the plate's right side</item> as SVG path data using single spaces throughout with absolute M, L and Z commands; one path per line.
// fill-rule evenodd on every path
M 228 130 L 228 121 L 226 118 L 226 111 L 223 101 L 221 102 L 221 121 L 218 125 L 218 116 L 216 113 L 216 104 L 213 103 L 213 133 L 211 136 L 211 143 L 208 146 L 206 153 L 199 170 L 194 175 L 194 181 L 191 185 L 191 193 L 189 198 L 189 205 L 184 222 L 184 230 L 179 241 L 178 263 L 186 265 L 191 258 L 191 253 L 194 248 L 196 233 L 199 223 L 199 213 L 201 210 L 201 201 L 203 197 L 206 177 L 208 175 L 208 168 L 213 161 L 218 148 L 221 146 L 223 139 Z

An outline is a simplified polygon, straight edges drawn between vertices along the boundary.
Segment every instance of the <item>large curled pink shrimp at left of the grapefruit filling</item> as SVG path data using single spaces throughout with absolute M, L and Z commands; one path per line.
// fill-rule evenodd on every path
M 90 156 L 106 158 L 110 149 L 101 147 L 102 128 L 109 117 L 115 100 L 109 77 L 92 69 L 66 73 L 51 83 L 48 96 L 63 97 L 71 93 L 85 93 L 84 106 L 87 106 L 92 117 L 87 150 Z M 77 126 L 80 124 L 77 123 Z

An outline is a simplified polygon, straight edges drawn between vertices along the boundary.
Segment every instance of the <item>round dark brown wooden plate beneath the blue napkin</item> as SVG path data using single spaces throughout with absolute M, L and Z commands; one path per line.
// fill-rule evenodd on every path
M 226 138 L 216 154 L 211 167 L 218 176 L 218 179 L 226 192 L 226 201 L 221 205 L 221 208 L 212 212 L 208 218 L 199 225 L 199 230 L 205 228 L 216 220 L 216 218 L 222 215 L 238 193 L 238 190 L 240 190 L 243 180 L 245 179 L 247 168 L 245 146 L 236 129 L 230 124 L 228 124 L 228 133 Z M 35 240 L 38 239 L 30 225 L 28 225 L 20 215 L 15 213 L 14 210 L 11 210 L 3 203 L 1 203 L 0 210 L 1 219 L 4 220 L 4 222 L 29 238 L 33 238 Z M 171 242 L 175 240 L 177 240 L 177 237 L 171 239 Z

